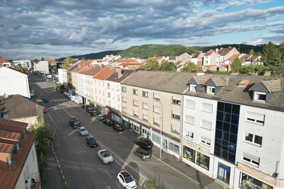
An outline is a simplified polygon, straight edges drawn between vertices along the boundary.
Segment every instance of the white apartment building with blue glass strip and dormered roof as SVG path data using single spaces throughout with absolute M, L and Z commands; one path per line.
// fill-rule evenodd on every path
M 283 78 L 203 75 L 188 86 L 182 161 L 228 188 L 283 188 Z

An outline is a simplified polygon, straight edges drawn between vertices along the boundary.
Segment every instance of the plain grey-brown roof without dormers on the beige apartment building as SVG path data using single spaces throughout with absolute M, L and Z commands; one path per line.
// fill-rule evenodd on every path
M 196 73 L 139 70 L 131 74 L 121 84 L 182 94 L 188 88 L 186 84 L 193 75 Z

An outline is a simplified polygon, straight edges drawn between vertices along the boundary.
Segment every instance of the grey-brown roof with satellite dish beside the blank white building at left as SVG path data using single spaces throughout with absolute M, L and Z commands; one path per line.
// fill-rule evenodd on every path
M 24 97 L 19 94 L 8 95 L 5 99 L 0 96 L 1 104 L 0 111 L 8 110 L 9 114 L 4 115 L 5 119 L 17 119 L 23 117 L 36 117 L 39 116 L 39 109 L 37 103 L 30 98 Z

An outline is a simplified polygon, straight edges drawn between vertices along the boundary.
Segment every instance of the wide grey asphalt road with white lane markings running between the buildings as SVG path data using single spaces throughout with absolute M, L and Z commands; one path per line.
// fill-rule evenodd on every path
M 136 180 L 137 188 L 144 188 L 147 180 L 159 183 L 166 188 L 200 188 L 200 186 L 187 179 L 173 168 L 165 165 L 154 156 L 141 161 L 133 155 L 138 147 L 134 140 L 138 135 L 125 129 L 116 132 L 111 126 L 105 126 L 102 121 L 90 116 L 81 105 L 68 100 L 62 93 L 55 91 L 53 83 L 46 82 L 38 75 L 30 75 L 30 86 L 36 90 L 36 97 L 47 97 L 50 101 L 44 103 L 47 113 L 44 114 L 45 123 L 50 124 L 54 133 L 53 149 L 64 174 L 66 184 L 62 179 L 58 164 L 49 165 L 47 171 L 56 175 L 53 181 L 47 182 L 47 188 L 122 188 L 117 181 L 117 174 L 128 171 Z M 35 97 L 35 98 L 36 98 Z M 99 146 L 89 148 L 85 143 L 86 136 L 80 136 L 78 131 L 68 123 L 70 116 L 76 116 L 87 128 L 89 135 L 95 137 Z M 103 164 L 98 158 L 98 151 L 108 150 L 114 159 L 110 164 Z M 149 151 L 152 153 L 152 151 Z M 54 158 L 52 148 L 47 147 L 46 158 Z M 47 179 L 48 180 L 48 179 Z

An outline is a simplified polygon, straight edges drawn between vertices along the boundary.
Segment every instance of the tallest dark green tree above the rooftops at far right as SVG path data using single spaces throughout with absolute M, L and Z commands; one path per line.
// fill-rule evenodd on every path
M 265 66 L 271 66 L 280 63 L 280 52 L 271 41 L 266 44 L 263 49 L 263 55 L 261 61 Z

